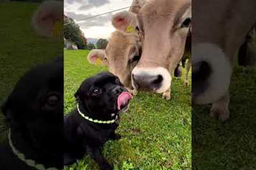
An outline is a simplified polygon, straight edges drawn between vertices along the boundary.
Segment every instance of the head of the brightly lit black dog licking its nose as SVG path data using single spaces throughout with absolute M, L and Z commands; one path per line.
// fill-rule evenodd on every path
M 118 77 L 109 72 L 86 79 L 75 97 L 88 113 L 106 119 L 123 111 L 132 99 Z

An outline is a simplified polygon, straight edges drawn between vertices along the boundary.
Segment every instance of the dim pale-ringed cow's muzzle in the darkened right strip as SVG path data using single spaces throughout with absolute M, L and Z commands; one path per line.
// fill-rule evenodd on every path
M 192 47 L 193 104 L 214 103 L 226 94 L 231 77 L 231 65 L 222 49 L 202 43 Z

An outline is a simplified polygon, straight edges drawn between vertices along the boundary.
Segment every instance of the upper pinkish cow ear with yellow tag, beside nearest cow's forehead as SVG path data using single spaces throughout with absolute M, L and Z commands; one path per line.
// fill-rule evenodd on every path
M 137 16 L 128 11 L 116 13 L 112 18 L 113 26 L 125 33 L 134 33 L 138 25 Z

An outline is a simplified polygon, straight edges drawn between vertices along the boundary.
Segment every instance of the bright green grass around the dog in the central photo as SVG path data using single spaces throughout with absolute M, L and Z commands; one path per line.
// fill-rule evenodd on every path
M 81 82 L 105 66 L 87 62 L 87 50 L 65 50 L 65 113 L 75 106 L 74 93 Z M 184 71 L 185 73 L 185 71 Z M 185 75 L 185 74 L 184 74 Z M 191 82 L 190 82 L 191 83 Z M 191 169 L 191 87 L 172 81 L 172 99 L 139 93 L 122 115 L 119 141 L 108 141 L 103 155 L 115 169 Z M 99 169 L 88 156 L 66 169 Z

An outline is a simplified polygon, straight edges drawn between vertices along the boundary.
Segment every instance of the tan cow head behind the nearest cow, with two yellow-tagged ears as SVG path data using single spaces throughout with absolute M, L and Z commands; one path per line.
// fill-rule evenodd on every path
M 106 50 L 95 49 L 88 55 L 91 64 L 103 63 L 117 75 L 127 88 L 131 86 L 131 72 L 140 60 L 141 42 L 135 14 L 127 11 L 113 16 L 112 24 L 117 29 L 111 33 Z

